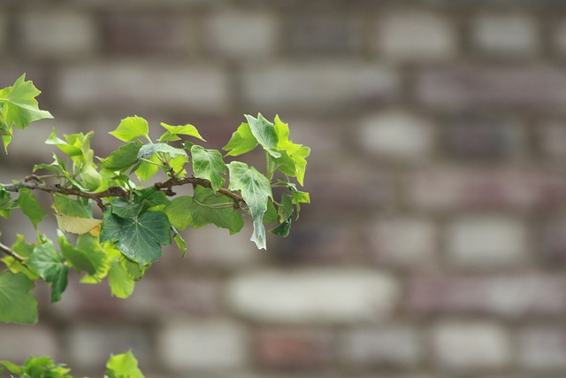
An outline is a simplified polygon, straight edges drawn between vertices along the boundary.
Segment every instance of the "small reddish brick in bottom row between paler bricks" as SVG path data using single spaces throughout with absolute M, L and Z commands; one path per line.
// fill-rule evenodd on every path
M 331 337 L 302 328 L 266 328 L 255 337 L 256 359 L 267 368 L 299 369 L 325 366 L 332 360 Z

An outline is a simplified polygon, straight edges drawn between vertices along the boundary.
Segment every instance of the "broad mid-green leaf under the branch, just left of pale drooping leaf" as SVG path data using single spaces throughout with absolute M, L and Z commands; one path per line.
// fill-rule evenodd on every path
M 177 197 L 164 212 L 174 228 L 183 230 L 187 226 L 202 228 L 210 223 L 235 234 L 243 227 L 241 213 L 233 208 L 233 199 L 215 195 L 210 188 L 197 186 L 195 196 Z

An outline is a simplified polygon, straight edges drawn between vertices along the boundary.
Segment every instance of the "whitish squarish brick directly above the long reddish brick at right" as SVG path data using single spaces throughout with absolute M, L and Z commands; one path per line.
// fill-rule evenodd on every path
M 527 232 L 513 218 L 468 216 L 447 226 L 447 257 L 463 268 L 500 268 L 524 263 Z

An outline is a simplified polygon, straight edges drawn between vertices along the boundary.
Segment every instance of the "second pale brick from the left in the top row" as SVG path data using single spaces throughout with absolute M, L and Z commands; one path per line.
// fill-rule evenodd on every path
M 271 56 L 277 48 L 279 25 L 266 12 L 215 12 L 206 29 L 210 50 L 222 57 L 256 59 Z

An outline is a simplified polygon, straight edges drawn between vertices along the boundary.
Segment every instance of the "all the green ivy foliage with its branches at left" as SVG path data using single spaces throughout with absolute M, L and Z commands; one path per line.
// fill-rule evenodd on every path
M 39 94 L 25 75 L 0 89 L 0 135 L 6 151 L 12 127 L 52 118 L 39 109 Z M 301 204 L 310 203 L 309 194 L 297 189 L 303 185 L 310 149 L 289 139 L 289 128 L 279 117 L 270 121 L 257 114 L 245 119 L 226 143 L 225 156 L 197 144 L 206 140 L 190 124 L 161 123 L 164 134 L 154 143 L 147 120 L 126 117 L 110 133 L 121 144 L 106 158 L 96 157 L 91 149 L 92 131 L 58 137 L 53 128 L 45 142 L 58 150 L 53 161 L 35 165 L 34 174 L 20 181 L 0 184 L 0 216 L 9 218 L 19 209 L 32 222 L 37 239 L 27 243 L 18 235 L 10 247 L 0 243 L 5 266 L 0 273 L 0 321 L 34 324 L 34 282 L 49 283 L 51 301 L 56 302 L 72 273 L 82 274 L 80 282 L 87 284 L 106 280 L 111 295 L 129 297 L 135 282 L 161 258 L 164 245 L 174 241 L 185 255 L 187 242 L 180 231 L 188 227 L 213 224 L 234 234 L 249 216 L 250 240 L 258 249 L 267 248 L 267 223 L 274 223 L 272 234 L 287 236 Z M 264 152 L 264 169 L 233 160 L 258 147 Z M 175 197 L 175 187 L 182 185 L 192 192 Z M 40 231 L 48 213 L 34 196 L 37 190 L 52 199 L 57 244 Z M 102 220 L 96 219 L 95 206 Z M 70 377 L 69 369 L 50 358 L 31 358 L 23 366 L 0 364 L 21 377 Z M 130 351 L 112 356 L 106 367 L 108 378 L 143 376 Z

